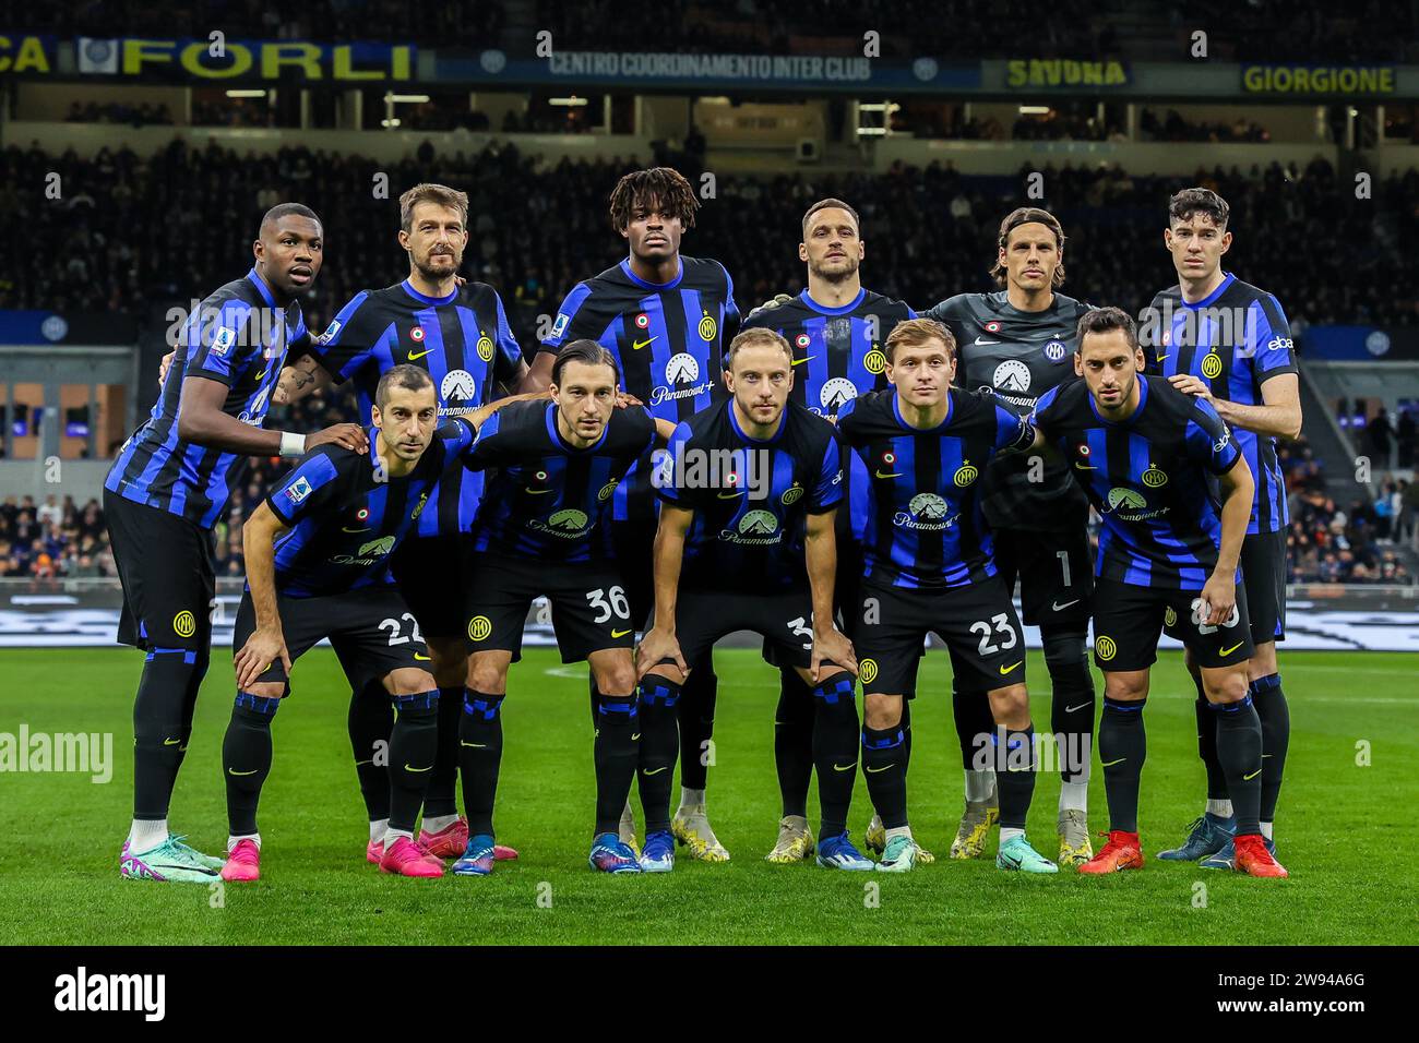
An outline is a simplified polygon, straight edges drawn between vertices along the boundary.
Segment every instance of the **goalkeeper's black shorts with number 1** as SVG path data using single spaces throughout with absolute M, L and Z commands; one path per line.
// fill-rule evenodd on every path
M 1020 580 L 1020 609 L 1032 626 L 1088 626 L 1094 559 L 1088 532 L 995 529 L 995 568 L 1007 590 Z

